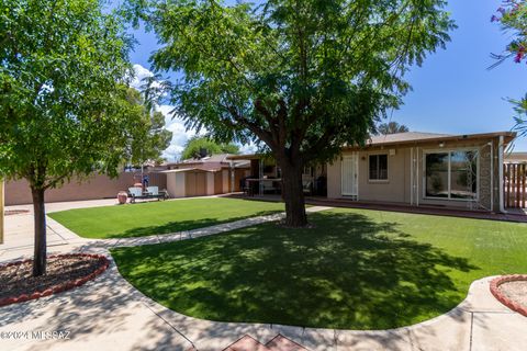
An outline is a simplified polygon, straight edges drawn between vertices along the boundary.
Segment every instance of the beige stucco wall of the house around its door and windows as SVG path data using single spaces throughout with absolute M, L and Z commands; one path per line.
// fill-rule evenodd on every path
M 494 148 L 490 145 L 494 143 Z M 435 200 L 426 199 L 424 190 L 425 172 L 424 172 L 424 155 L 426 151 L 433 150 L 452 150 L 452 149 L 478 149 L 479 150 L 479 179 L 478 191 L 479 199 L 475 202 L 456 201 L 456 200 Z M 491 149 L 493 151 L 491 152 Z M 412 151 L 411 151 L 412 149 Z M 392 150 L 392 152 L 390 152 Z M 343 155 L 351 154 L 352 151 L 344 151 Z M 371 148 L 368 150 L 358 151 L 358 188 L 359 201 L 373 201 L 384 203 L 403 203 L 411 204 L 411 169 L 412 169 L 412 152 L 416 158 L 416 167 L 414 180 L 416 185 L 416 193 L 414 194 L 414 204 L 418 201 L 419 204 L 449 206 L 459 208 L 484 208 L 492 210 L 492 202 L 494 202 L 494 210 L 496 210 L 498 197 L 498 179 L 497 179 L 497 139 L 496 140 L 475 140 L 475 141 L 456 141 L 444 145 L 442 148 L 438 144 L 421 145 L 419 147 L 385 147 Z M 369 172 L 369 156 L 375 154 L 388 155 L 388 181 L 370 181 L 368 179 Z M 394 154 L 394 155 L 390 155 Z M 491 162 L 491 154 L 493 154 L 493 162 Z M 493 165 L 491 165 L 493 163 Z M 418 171 L 418 172 L 417 172 Z M 491 176 L 492 174 L 492 176 Z M 491 180 L 492 178 L 492 180 Z M 492 181 L 492 182 L 491 182 Z M 493 194 L 491 195 L 491 192 Z M 327 197 L 344 199 L 341 195 L 341 159 L 337 159 L 333 163 L 327 165 Z M 492 197 L 492 199 L 491 199 Z

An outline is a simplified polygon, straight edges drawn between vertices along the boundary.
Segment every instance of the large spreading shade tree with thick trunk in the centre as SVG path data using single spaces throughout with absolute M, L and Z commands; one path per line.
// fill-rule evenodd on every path
M 232 1 L 229 3 L 233 3 Z M 444 0 L 130 0 L 182 71 L 172 100 L 189 127 L 261 141 L 282 171 L 285 225 L 306 225 L 302 169 L 362 144 L 408 90 L 404 72 L 444 46 Z

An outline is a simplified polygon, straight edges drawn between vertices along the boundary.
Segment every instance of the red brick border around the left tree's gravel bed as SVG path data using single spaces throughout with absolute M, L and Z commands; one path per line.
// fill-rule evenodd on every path
M 45 296 L 49 296 L 49 295 L 54 295 L 54 294 L 58 294 L 58 293 L 71 290 L 74 287 L 81 286 L 81 285 L 86 284 L 87 282 L 96 279 L 96 276 L 98 276 L 99 274 L 104 272 L 110 265 L 110 260 L 104 254 L 96 254 L 96 253 L 53 254 L 53 256 L 49 256 L 48 259 L 72 258 L 72 257 L 94 258 L 94 259 L 99 260 L 99 263 L 101 265 L 97 270 L 94 270 L 93 272 L 91 272 L 90 274 L 88 274 L 86 276 L 78 278 L 76 280 L 70 280 L 70 281 L 67 281 L 67 282 L 64 282 L 64 283 L 60 283 L 60 284 L 57 284 L 57 285 L 53 285 L 52 287 L 48 287 L 44 291 L 36 291 L 32 294 L 21 294 L 21 295 L 18 295 L 18 296 L 9 296 L 9 297 L 1 298 L 0 299 L 0 307 L 11 305 L 11 304 L 16 304 L 16 303 L 23 303 L 23 302 L 26 302 L 26 301 L 36 299 L 36 298 L 41 298 L 41 297 L 45 297 Z M 14 262 L 0 264 L 0 270 L 3 269 L 3 268 L 12 267 L 12 265 L 24 264 L 24 263 L 27 263 L 27 262 L 31 262 L 31 261 L 33 261 L 33 259 L 26 259 L 26 260 L 21 260 L 21 261 L 14 261 Z

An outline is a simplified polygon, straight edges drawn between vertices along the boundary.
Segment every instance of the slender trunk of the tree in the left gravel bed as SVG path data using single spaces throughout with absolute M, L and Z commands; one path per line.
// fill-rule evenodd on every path
M 46 208 L 44 189 L 31 189 L 35 219 L 35 251 L 33 258 L 33 276 L 46 274 Z

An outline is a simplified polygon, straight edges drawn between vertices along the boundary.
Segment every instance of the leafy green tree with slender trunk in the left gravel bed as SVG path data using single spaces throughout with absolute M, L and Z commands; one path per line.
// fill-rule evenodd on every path
M 99 0 L 0 0 L 0 177 L 33 195 L 33 274 L 46 272 L 45 191 L 116 174 L 143 116 L 127 99 L 130 38 Z

